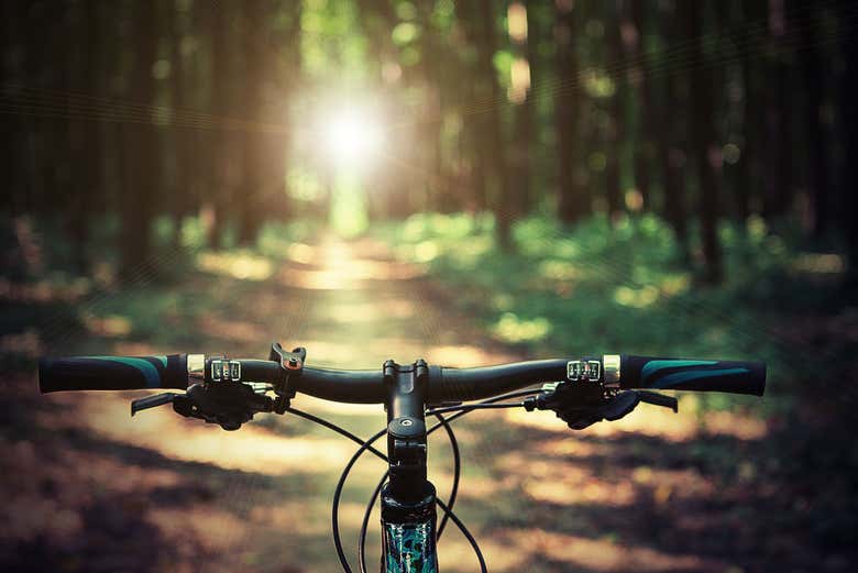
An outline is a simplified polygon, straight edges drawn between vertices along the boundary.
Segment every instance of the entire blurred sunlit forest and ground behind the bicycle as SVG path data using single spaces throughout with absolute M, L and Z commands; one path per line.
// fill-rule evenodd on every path
M 496 572 L 853 570 L 858 4 L 0 8 L 0 569 L 338 570 L 351 442 L 37 392 L 40 355 L 279 340 L 359 368 L 765 360 L 763 399 L 681 395 L 581 432 L 471 415 L 459 514 Z M 346 487 L 349 550 L 383 470 Z M 458 531 L 440 550 L 476 570 Z

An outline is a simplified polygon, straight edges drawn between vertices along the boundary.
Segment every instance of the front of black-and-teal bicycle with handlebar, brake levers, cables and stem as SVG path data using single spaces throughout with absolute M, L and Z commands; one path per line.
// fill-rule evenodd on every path
M 306 367 L 306 357 L 304 348 L 287 352 L 274 343 L 268 360 L 204 354 L 42 359 L 38 383 L 43 393 L 180 389 L 185 392 L 133 400 L 131 415 L 172 404 L 182 416 L 217 423 L 224 430 L 238 430 L 256 414 L 288 412 L 359 443 L 360 448 L 340 475 L 331 511 L 334 548 L 346 573 L 352 569 L 342 548 L 339 504 L 351 469 L 366 452 L 386 461 L 388 470 L 364 514 L 358 544 L 360 571 L 367 571 L 366 531 L 370 515 L 381 498 L 382 573 L 437 573 L 437 541 L 448 520 L 468 539 L 481 571 L 485 572 L 485 560 L 476 540 L 453 511 L 461 470 L 459 444 L 450 425 L 454 419 L 479 409 L 552 410 L 570 428 L 581 430 L 602 420 L 618 420 L 640 403 L 678 411 L 674 397 L 653 389 L 762 396 L 766 388 L 766 365 L 747 361 L 605 354 L 451 368 L 430 366 L 422 360 L 408 365 L 388 360 L 378 372 Z M 528 388 L 535 384 L 542 385 Z M 363 440 L 328 420 L 294 408 L 290 400 L 297 393 L 334 401 L 383 404 L 387 426 Z M 438 421 L 427 428 L 427 416 Z M 448 503 L 437 496 L 427 477 L 427 437 L 439 429 L 448 434 L 453 454 Z M 385 434 L 386 454 L 373 445 Z M 437 507 L 443 513 L 440 522 Z

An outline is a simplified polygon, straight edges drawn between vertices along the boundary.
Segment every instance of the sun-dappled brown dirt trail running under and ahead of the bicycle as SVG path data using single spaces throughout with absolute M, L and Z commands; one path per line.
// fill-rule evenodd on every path
M 213 253 L 199 265 L 178 288 L 205 301 L 206 311 L 195 324 L 176 319 L 170 327 L 194 327 L 194 348 L 120 340 L 111 352 L 255 357 L 278 340 L 306 346 L 308 364 L 336 367 L 372 368 L 388 357 L 455 366 L 526 357 L 458 311 L 454 293 L 371 240 L 294 244 L 276 262 Z M 74 343 L 67 348 L 76 352 Z M 224 432 L 168 409 L 132 420 L 128 401 L 139 393 L 44 398 L 33 377 L 22 378 L 19 390 L 33 411 L 18 420 L 30 438 L 3 438 L 14 455 L 0 470 L 22 476 L 3 484 L 3 495 L 14 499 L 6 509 L 14 527 L 4 541 L 18 543 L 21 559 L 28 555 L 21 548 L 32 547 L 52 566 L 70 563 L 73 571 L 76 559 L 89 571 L 338 569 L 330 503 L 353 443 L 288 416 L 258 417 Z M 360 436 L 384 423 L 377 406 L 305 396 L 294 405 Z M 464 461 L 457 510 L 491 571 L 766 569 L 755 551 L 766 520 L 744 519 L 754 509 L 736 477 L 752 471 L 741 469 L 743 452 L 765 438 L 765 422 L 641 408 L 579 433 L 550 412 L 524 411 L 474 414 L 457 429 Z M 341 507 L 350 557 L 383 470 L 367 459 L 352 473 Z M 430 474 L 446 498 L 451 464 L 441 436 L 430 441 Z M 448 531 L 440 542 L 443 571 L 474 571 L 466 541 Z M 44 533 L 52 539 L 46 552 L 37 544 Z M 371 569 L 377 544 L 373 531 Z M 94 569 L 92 560 L 103 560 L 103 568 Z

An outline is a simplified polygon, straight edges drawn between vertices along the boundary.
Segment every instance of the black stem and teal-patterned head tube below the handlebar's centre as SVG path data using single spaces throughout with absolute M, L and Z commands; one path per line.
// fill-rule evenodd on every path
M 426 387 L 422 360 L 384 363 L 387 456 L 382 489 L 382 573 L 437 573 L 436 491 L 426 476 Z

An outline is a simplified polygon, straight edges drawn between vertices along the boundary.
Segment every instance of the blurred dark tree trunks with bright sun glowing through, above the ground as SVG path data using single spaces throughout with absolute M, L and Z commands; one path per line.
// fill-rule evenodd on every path
M 337 212 L 486 212 L 505 249 L 527 217 L 652 212 L 711 284 L 723 221 L 855 251 L 851 2 L 3 11 L 3 210 L 54 228 L 79 273 L 105 251 L 150 264 L 156 225 L 253 244 Z

